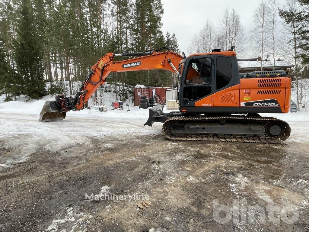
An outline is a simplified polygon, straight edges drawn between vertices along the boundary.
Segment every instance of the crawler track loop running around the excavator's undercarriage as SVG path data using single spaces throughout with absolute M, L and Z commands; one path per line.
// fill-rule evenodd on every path
M 276 137 L 247 137 L 247 136 L 225 136 L 218 135 L 186 135 L 186 136 L 174 136 L 167 131 L 167 125 L 175 122 L 188 122 L 188 121 L 218 121 L 218 120 L 235 120 L 236 122 L 277 122 L 282 125 L 282 133 Z M 176 116 L 168 118 L 163 124 L 163 134 L 170 140 L 198 140 L 198 141 L 219 141 L 219 142 L 247 142 L 247 143 L 271 143 L 277 144 L 285 141 L 290 137 L 291 128 L 289 124 L 277 118 L 272 117 L 256 117 L 256 116 L 244 116 L 244 115 L 231 115 L 231 116 Z

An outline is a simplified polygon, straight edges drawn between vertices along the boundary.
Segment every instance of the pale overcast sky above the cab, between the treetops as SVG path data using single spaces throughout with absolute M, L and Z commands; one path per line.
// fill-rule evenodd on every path
M 171 34 L 174 32 L 178 39 L 180 51 L 187 53 L 190 40 L 194 33 L 205 24 L 206 19 L 213 21 L 217 27 L 219 19 L 223 15 L 226 7 L 235 8 L 240 15 L 241 22 L 247 33 L 247 41 L 250 37 L 250 30 L 253 28 L 253 12 L 260 4 L 261 0 L 161 0 L 164 7 L 162 17 L 162 31 Z M 280 0 L 280 5 L 284 0 Z M 252 56 L 249 44 L 247 56 Z

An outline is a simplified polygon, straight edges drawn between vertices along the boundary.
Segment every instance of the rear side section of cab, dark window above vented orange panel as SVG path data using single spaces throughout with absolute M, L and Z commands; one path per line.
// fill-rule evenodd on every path
M 239 106 L 236 56 L 215 55 L 214 106 Z

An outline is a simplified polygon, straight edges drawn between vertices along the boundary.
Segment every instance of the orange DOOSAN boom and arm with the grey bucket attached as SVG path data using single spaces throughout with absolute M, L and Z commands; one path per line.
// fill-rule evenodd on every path
M 115 56 L 137 57 L 123 61 L 115 61 Z M 40 113 L 40 122 L 65 119 L 66 112 L 70 110 L 83 110 L 86 108 L 88 99 L 101 84 L 105 84 L 106 78 L 111 72 L 161 69 L 178 74 L 177 68 L 182 59 L 180 54 L 176 54 L 169 50 L 161 52 L 160 49 L 142 53 L 108 53 L 92 66 L 91 72 L 74 98 L 66 97 L 65 95 L 57 95 L 56 101 L 45 102 Z

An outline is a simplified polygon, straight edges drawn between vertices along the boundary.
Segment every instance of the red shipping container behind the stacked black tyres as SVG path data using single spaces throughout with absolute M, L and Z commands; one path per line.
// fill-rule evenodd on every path
M 165 104 L 166 101 L 166 90 L 171 87 L 141 87 L 134 88 L 134 105 L 140 105 L 141 95 L 146 97 L 154 97 L 157 94 L 161 102 Z

